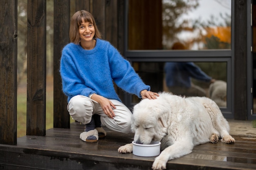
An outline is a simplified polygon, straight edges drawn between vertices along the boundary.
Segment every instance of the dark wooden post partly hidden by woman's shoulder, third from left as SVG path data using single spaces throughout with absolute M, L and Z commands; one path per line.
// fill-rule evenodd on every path
M 63 12 L 65 11 L 65 12 Z M 70 41 L 70 0 L 54 0 L 54 127 L 70 128 L 67 96 L 59 72 L 61 51 Z

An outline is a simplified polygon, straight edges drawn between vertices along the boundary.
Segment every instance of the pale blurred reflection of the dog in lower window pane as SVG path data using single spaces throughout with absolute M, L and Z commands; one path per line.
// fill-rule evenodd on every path
M 217 80 L 209 86 L 209 98 L 219 107 L 227 107 L 227 83 Z

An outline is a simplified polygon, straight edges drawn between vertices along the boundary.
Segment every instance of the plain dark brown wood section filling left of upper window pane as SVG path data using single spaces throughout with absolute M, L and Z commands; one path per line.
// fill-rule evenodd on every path
M 128 49 L 161 50 L 162 1 L 129 0 L 128 6 Z

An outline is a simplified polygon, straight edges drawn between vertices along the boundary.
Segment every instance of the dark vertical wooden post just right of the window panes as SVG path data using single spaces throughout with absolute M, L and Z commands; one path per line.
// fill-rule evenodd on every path
M 234 1 L 234 118 L 247 119 L 247 8 L 246 0 Z M 233 14 L 232 14 L 233 15 Z

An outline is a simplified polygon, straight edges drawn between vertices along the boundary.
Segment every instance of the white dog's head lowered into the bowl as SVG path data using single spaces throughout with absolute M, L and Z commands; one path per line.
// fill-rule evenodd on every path
M 140 144 L 150 144 L 151 140 L 161 141 L 166 135 L 168 107 L 163 105 L 160 97 L 155 100 L 141 100 L 133 108 L 132 131 L 134 141 Z M 169 110 L 170 111 L 170 110 Z

